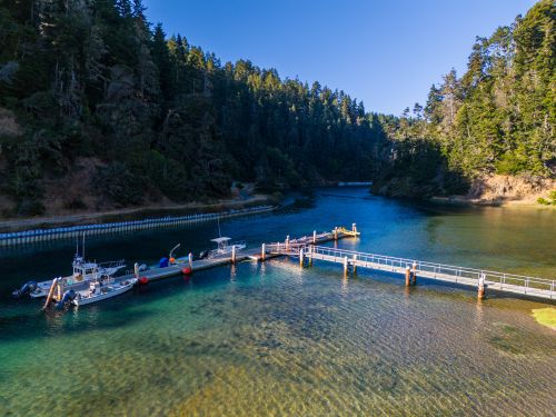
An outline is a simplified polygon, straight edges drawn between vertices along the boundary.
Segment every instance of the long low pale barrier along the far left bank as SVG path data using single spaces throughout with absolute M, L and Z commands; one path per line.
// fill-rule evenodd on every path
M 36 217 L 26 219 L 0 220 L 0 232 L 13 232 L 30 229 L 51 228 L 59 226 L 81 226 L 88 224 L 102 224 L 115 220 L 140 219 L 147 215 L 175 214 L 205 214 L 228 209 L 240 209 L 250 206 L 275 203 L 276 199 L 268 195 L 254 195 L 246 199 L 226 199 L 214 202 L 188 202 L 185 205 L 160 205 L 106 210 L 98 212 L 83 212 L 51 217 Z

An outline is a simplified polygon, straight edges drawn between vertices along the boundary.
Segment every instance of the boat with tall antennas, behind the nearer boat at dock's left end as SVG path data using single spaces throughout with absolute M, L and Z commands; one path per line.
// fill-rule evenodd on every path
M 126 261 L 123 259 L 101 264 L 88 261 L 85 259 L 83 240 L 82 255 L 79 255 L 78 245 L 71 266 L 73 268 L 73 274 L 61 278 L 63 280 L 64 288 L 68 290 L 80 289 L 82 288 L 83 282 L 86 284 L 90 280 L 95 280 L 99 276 L 112 277 L 116 272 L 126 267 Z M 50 287 L 52 286 L 52 279 L 40 282 L 27 281 L 20 289 L 14 290 L 12 295 L 16 298 L 21 298 L 26 295 L 29 295 L 31 298 L 47 297 Z

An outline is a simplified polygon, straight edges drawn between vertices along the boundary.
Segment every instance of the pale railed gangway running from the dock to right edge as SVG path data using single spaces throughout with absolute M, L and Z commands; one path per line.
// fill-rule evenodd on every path
M 301 248 L 296 248 L 301 249 Z M 461 284 L 470 284 L 469 280 L 479 282 L 479 278 L 484 277 L 485 284 L 494 289 L 500 290 L 512 290 L 516 291 L 516 287 L 519 287 L 519 292 L 523 294 L 548 294 L 548 298 L 556 298 L 556 280 L 528 277 L 523 275 L 507 274 L 493 271 L 488 269 L 476 269 L 468 267 L 459 267 L 454 265 L 445 265 L 437 262 L 428 262 L 417 259 L 399 258 L 387 255 L 377 254 L 365 254 L 348 249 L 337 249 L 324 246 L 312 246 L 308 245 L 304 248 L 305 256 L 307 258 L 327 258 L 334 262 L 341 264 L 345 258 L 348 258 L 349 265 L 357 265 L 363 267 L 369 267 L 375 269 L 391 270 L 399 272 L 400 269 L 406 269 L 407 267 L 415 268 L 417 274 L 433 279 L 449 278 L 450 281 Z M 548 292 L 546 292 L 548 291 Z

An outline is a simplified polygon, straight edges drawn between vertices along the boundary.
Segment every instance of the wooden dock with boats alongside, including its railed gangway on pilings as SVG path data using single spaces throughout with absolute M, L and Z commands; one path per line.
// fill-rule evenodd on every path
M 477 289 L 477 298 L 479 300 L 485 298 L 487 289 L 489 291 L 495 290 L 525 297 L 556 299 L 556 280 L 554 279 L 549 280 L 321 246 L 329 241 L 357 238 L 359 236 L 360 232 L 357 230 L 355 224 L 351 225 L 351 229 L 335 227 L 331 231 L 320 234 L 314 230 L 310 236 L 294 239 L 287 236 L 284 241 L 261 244 L 260 247 L 251 249 L 236 251 L 236 247 L 231 246 L 230 256 L 193 259 L 192 254 L 189 254 L 185 258 L 172 259 L 172 262 L 167 267 L 150 268 L 143 271 L 136 269 L 135 271 L 128 271 L 126 275 L 117 277 L 116 280 L 123 281 L 130 278 L 138 278 L 145 284 L 178 275 L 187 276 L 198 270 L 245 260 L 266 261 L 277 257 L 291 257 L 298 259 L 301 268 L 314 266 L 314 261 L 317 260 L 340 265 L 344 270 L 344 277 L 348 277 L 349 274 L 356 275 L 358 268 L 365 268 L 401 275 L 405 277 L 405 285 L 407 287 L 417 285 L 418 277 L 473 287 Z M 58 294 L 61 294 L 61 291 L 58 291 Z

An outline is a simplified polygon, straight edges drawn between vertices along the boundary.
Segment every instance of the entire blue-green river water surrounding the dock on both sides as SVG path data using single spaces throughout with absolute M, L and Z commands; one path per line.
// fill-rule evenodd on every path
M 331 196 L 335 195 L 335 196 Z M 427 207 L 317 191 L 309 208 L 221 221 L 255 245 L 356 221 L 340 247 L 556 277 L 550 210 Z M 90 257 L 156 262 L 203 249 L 216 222 L 88 240 Z M 67 314 L 10 291 L 68 271 L 72 242 L 1 249 L 0 415 L 554 415 L 546 305 L 317 262 L 242 262 L 151 282 Z M 182 250 L 180 255 L 185 254 Z

